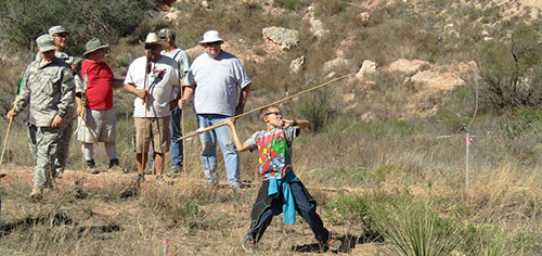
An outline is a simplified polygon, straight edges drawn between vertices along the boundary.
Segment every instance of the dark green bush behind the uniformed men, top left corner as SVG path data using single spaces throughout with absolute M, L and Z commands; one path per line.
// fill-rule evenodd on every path
M 0 2 L 0 26 L 10 46 L 30 50 L 34 40 L 54 25 L 70 33 L 70 49 L 85 51 L 85 43 L 99 37 L 115 42 L 131 34 L 155 7 L 153 0 L 4 0 Z

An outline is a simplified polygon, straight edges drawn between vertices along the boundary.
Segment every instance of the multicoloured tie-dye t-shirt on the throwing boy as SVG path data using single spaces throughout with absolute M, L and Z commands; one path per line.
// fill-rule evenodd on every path
M 292 170 L 292 141 L 298 136 L 295 127 L 260 130 L 245 144 L 250 151 L 258 150 L 260 177 L 263 180 L 282 179 Z

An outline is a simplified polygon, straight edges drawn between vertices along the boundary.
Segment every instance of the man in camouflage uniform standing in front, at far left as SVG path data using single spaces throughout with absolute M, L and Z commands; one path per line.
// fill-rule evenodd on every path
M 8 118 L 14 118 L 29 104 L 28 129 L 37 153 L 30 197 L 41 200 L 43 188 L 52 184 L 59 140 L 67 113 L 74 111 L 75 89 L 69 66 L 54 56 L 53 37 L 42 35 L 36 42 L 41 57 L 26 68 L 21 93 Z

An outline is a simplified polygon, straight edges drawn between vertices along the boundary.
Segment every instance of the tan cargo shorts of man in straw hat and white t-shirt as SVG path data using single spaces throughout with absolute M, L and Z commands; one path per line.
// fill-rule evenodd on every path
M 154 152 L 156 153 L 169 152 L 169 145 L 171 143 L 171 137 L 169 135 L 169 116 L 147 118 L 134 117 L 133 123 L 136 125 L 136 153 L 146 153 L 150 145 L 154 148 Z M 143 138 L 143 133 L 145 133 L 145 138 Z M 144 150 L 143 141 L 145 143 Z

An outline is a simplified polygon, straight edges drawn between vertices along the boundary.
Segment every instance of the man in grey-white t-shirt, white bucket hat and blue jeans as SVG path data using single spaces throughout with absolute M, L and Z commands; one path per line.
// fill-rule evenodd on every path
M 223 39 L 216 30 L 204 34 L 199 44 L 205 53 L 197 56 L 190 67 L 195 84 L 184 86 L 184 93 L 179 101 L 183 110 L 189 99 L 194 95 L 194 108 L 199 128 L 220 123 L 229 117 L 242 114 L 245 107 L 251 80 L 241 61 L 233 54 L 222 51 Z M 241 88 L 241 90 L 240 90 Z M 232 188 L 241 185 L 238 152 L 227 126 L 207 131 L 199 136 L 202 141 L 202 166 L 207 182 L 218 183 L 217 141 L 224 157 L 228 182 Z

